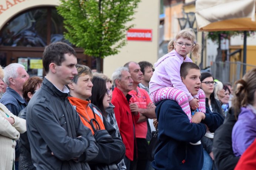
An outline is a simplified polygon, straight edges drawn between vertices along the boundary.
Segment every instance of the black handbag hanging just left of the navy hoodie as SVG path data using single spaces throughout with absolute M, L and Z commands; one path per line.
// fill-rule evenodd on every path
M 152 162 L 154 160 L 154 155 L 156 153 L 157 146 L 159 145 L 158 141 L 158 129 L 152 131 L 152 138 L 149 142 L 149 157 L 148 159 Z

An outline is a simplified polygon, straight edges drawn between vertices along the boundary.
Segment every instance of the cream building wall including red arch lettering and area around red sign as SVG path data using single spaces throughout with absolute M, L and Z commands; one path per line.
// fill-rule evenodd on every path
M 59 0 L 0 0 L 0 29 L 16 14 L 29 8 L 40 6 L 57 6 Z M 103 73 L 111 76 L 113 71 L 126 62 L 140 62 L 147 60 L 152 64 L 157 61 L 159 39 L 159 10 L 160 0 L 141 0 L 134 20 L 137 29 L 151 29 L 152 41 L 128 41 L 127 45 L 120 49 L 120 53 L 108 56 L 103 60 Z

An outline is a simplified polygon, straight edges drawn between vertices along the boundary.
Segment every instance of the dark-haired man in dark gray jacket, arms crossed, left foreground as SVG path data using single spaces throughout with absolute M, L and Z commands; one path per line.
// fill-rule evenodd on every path
M 37 170 L 90 170 L 98 154 L 92 132 L 67 100 L 69 84 L 77 74 L 76 52 L 56 42 L 46 47 L 46 77 L 27 107 L 27 136 Z

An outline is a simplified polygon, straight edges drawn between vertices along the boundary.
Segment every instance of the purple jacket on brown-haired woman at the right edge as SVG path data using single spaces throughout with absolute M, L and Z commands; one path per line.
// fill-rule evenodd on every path
M 232 130 L 232 148 L 241 156 L 256 138 L 256 110 L 252 105 L 242 107 Z

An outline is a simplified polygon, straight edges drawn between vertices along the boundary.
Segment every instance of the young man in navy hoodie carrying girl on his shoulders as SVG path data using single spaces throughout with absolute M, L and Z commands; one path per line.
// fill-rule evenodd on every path
M 199 67 L 194 63 L 184 62 L 180 67 L 180 75 L 189 92 L 196 95 L 201 84 Z M 164 100 L 157 104 L 160 144 L 152 162 L 155 170 L 202 169 L 203 146 L 191 145 L 190 142 L 196 143 L 205 135 L 207 128 L 214 132 L 223 123 L 220 114 L 209 112 L 208 108 L 205 114 L 196 112 L 190 123 L 176 101 Z

